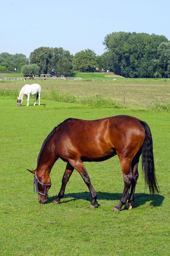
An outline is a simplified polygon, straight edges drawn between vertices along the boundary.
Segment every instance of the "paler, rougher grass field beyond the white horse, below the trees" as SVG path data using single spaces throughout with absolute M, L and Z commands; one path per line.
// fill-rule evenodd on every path
M 112 108 L 116 102 L 123 108 L 125 93 L 126 108 L 170 111 L 170 79 L 116 78 L 116 81 L 113 81 L 113 77 L 106 74 L 92 76 L 87 73 L 74 76 L 76 78 L 81 76 L 84 80 L 36 79 L 35 81 L 26 80 L 26 83 L 39 83 L 42 88 L 42 99 L 58 98 L 59 101 L 81 104 L 85 102 L 86 105 L 92 105 L 93 99 L 97 105 L 101 101 L 107 101 L 105 106 Z M 0 95 L 5 98 L 8 95 L 15 98 L 23 85 L 22 80 L 1 81 Z M 59 95 L 53 95 L 52 92 Z

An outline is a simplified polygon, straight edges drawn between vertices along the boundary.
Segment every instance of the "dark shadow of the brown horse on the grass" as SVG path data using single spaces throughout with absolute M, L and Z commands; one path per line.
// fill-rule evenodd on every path
M 110 201 L 118 200 L 119 201 L 122 197 L 121 193 L 107 193 L 107 192 L 100 192 L 100 191 L 97 192 L 97 195 L 98 195 L 98 201 L 100 200 L 110 200 Z M 56 196 L 52 196 L 48 198 L 48 202 L 49 203 L 52 202 L 55 198 Z M 80 199 L 87 200 L 89 202 L 92 201 L 92 198 L 89 192 L 68 193 L 64 195 L 64 199 L 67 199 L 67 200 L 62 201 L 61 199 L 61 203 L 67 203 L 70 201 L 76 201 Z M 146 204 L 146 202 L 150 202 L 150 204 L 153 207 L 158 207 L 158 206 L 161 206 L 163 199 L 164 199 L 164 196 L 159 194 L 150 195 L 146 193 L 136 193 L 135 202 L 133 203 L 133 208 L 137 208 L 143 204 Z

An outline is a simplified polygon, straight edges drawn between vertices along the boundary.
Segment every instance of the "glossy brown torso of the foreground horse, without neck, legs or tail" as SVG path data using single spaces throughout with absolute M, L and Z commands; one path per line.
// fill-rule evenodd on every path
M 140 148 L 144 142 L 140 120 L 130 116 L 114 116 L 98 120 L 68 119 L 57 130 L 58 151 L 77 153 L 87 159 L 107 159 L 129 148 Z M 63 146 L 64 145 L 64 146 Z M 99 160 L 100 161 L 100 160 Z

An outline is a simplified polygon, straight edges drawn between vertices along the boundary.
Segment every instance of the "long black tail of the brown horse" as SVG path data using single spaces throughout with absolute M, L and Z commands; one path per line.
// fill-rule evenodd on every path
M 145 139 L 142 146 L 142 171 L 144 172 L 145 184 L 149 187 L 150 193 L 159 193 L 159 186 L 155 176 L 155 165 L 153 157 L 153 140 L 148 124 L 141 121 L 145 129 Z

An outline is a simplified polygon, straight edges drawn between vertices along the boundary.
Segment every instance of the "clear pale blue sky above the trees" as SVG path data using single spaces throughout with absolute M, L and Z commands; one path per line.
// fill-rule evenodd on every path
M 0 53 L 62 47 L 97 55 L 112 32 L 163 35 L 170 40 L 170 0 L 4 0 L 0 4 Z

